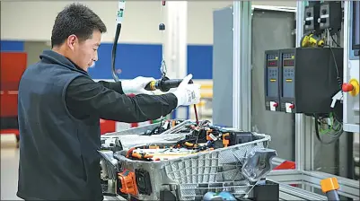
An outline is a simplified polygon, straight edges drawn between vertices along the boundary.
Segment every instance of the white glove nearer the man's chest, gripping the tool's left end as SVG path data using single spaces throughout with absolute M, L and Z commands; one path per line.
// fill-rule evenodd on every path
M 144 93 L 144 94 L 152 95 L 154 93 L 151 91 L 145 90 L 145 86 L 154 80 L 155 79 L 153 77 L 139 76 L 132 80 L 121 81 L 122 91 L 126 94 L 127 93 L 134 93 L 134 94 Z

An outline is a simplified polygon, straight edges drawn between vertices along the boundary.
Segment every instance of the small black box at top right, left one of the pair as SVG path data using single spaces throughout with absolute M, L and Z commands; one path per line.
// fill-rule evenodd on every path
M 320 17 L 320 2 L 314 2 L 305 7 L 304 31 L 318 31 Z

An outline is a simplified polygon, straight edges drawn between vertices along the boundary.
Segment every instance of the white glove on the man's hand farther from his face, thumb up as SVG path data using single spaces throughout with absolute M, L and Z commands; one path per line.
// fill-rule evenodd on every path
M 189 83 L 192 78 L 192 74 L 188 74 L 182 82 L 180 83 L 179 87 L 172 92 L 176 98 L 178 98 L 178 106 L 184 105 L 192 105 L 198 104 L 200 101 L 200 84 L 198 83 Z

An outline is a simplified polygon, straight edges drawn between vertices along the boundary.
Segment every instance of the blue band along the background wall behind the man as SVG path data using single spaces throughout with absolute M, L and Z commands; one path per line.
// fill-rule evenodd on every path
M 1 41 L 2 51 L 23 51 L 23 41 Z M 113 79 L 111 75 L 111 43 L 102 43 L 99 60 L 89 69 L 93 79 Z M 118 44 L 116 68 L 120 70 L 119 79 L 136 76 L 160 78 L 162 46 L 149 44 Z M 188 46 L 188 73 L 194 79 L 212 79 L 213 47 L 205 45 Z

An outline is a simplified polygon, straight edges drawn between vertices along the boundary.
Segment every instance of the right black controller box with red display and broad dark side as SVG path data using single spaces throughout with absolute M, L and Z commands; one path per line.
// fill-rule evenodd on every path
M 279 50 L 280 110 L 286 113 L 342 113 L 331 101 L 341 86 L 343 48 L 287 48 Z

